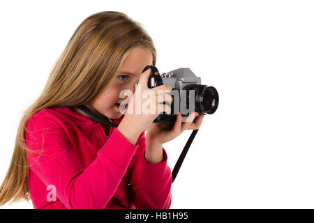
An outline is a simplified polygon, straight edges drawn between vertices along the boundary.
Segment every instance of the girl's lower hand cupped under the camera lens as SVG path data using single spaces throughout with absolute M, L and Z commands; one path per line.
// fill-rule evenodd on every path
M 192 112 L 184 122 L 177 114 L 174 125 L 172 122 L 151 123 L 147 128 L 146 138 L 154 144 L 164 144 L 178 137 L 184 130 L 197 130 L 202 124 L 204 115 Z

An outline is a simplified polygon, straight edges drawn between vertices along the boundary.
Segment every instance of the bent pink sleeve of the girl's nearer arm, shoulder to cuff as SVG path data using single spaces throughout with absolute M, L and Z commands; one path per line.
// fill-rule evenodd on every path
M 27 151 L 29 168 L 45 185 L 55 186 L 57 197 L 67 208 L 105 208 L 138 145 L 114 128 L 96 159 L 83 169 L 59 124 L 41 116 L 29 120 L 25 139 L 27 147 L 35 151 Z

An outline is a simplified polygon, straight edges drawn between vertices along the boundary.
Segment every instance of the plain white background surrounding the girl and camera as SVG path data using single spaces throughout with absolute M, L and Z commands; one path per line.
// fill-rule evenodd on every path
M 3 2 L 1 182 L 22 112 L 70 36 L 89 15 L 118 10 L 154 39 L 160 72 L 190 68 L 220 95 L 172 185 L 171 208 L 314 208 L 313 1 Z M 191 132 L 164 144 L 171 169 Z

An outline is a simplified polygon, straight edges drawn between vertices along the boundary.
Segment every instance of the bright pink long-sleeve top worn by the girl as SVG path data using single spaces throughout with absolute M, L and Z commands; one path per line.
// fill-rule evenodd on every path
M 50 107 L 29 118 L 25 139 L 34 208 L 170 208 L 167 153 L 147 162 L 144 132 L 134 145 L 115 127 L 106 136 L 100 123 Z

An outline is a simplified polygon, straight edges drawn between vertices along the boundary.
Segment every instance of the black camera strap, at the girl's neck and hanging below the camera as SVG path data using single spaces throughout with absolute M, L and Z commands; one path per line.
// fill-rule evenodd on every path
M 85 105 L 79 105 L 77 106 L 78 109 L 80 109 L 85 114 L 88 114 L 89 116 L 93 117 L 98 123 L 103 123 L 104 125 L 110 125 L 113 127 L 118 127 L 119 125 L 116 123 L 112 123 L 109 121 L 109 118 L 100 117 L 98 114 L 92 112 L 88 107 Z M 188 141 L 186 142 L 186 146 L 184 146 L 183 151 L 181 152 L 181 155 L 179 156 L 179 159 L 177 160 L 177 163 L 174 166 L 174 169 L 172 170 L 172 183 L 174 182 L 174 179 L 177 177 L 177 174 L 179 172 L 179 169 L 184 162 L 184 158 L 186 157 L 186 153 L 188 153 L 188 149 L 190 148 L 190 144 L 192 144 L 192 141 L 196 135 L 198 130 L 193 130 L 192 134 L 190 134 L 190 137 L 188 138 Z

